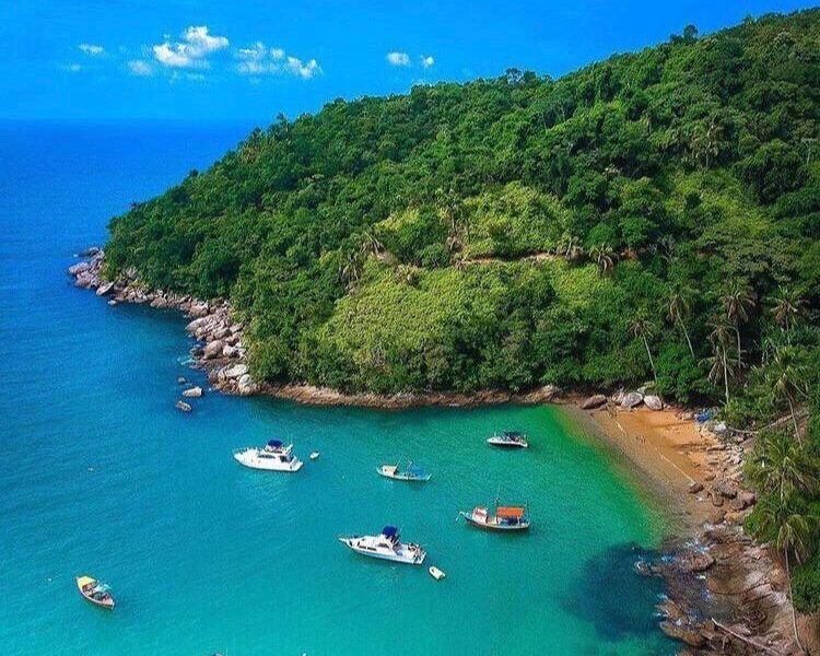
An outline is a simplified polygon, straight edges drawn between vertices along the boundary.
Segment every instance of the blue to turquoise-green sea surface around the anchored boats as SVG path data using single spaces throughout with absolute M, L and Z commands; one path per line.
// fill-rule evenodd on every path
M 109 219 L 254 126 L 0 124 L 0 645 L 7 655 L 657 655 L 663 589 L 634 574 L 663 518 L 560 410 L 382 412 L 208 391 L 174 409 L 185 319 L 108 307 L 66 276 Z M 484 444 L 526 431 L 531 448 Z M 232 450 L 295 442 L 296 475 Z M 376 475 L 412 458 L 425 484 Z M 527 503 L 529 535 L 459 508 Z M 348 551 L 386 524 L 424 567 Z M 426 565 L 447 574 L 435 582 Z M 117 608 L 74 577 L 109 583 Z

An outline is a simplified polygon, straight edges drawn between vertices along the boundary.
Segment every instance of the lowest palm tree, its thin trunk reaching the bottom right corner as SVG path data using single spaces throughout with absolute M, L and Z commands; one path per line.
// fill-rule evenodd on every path
M 804 562 L 810 554 L 811 526 L 809 516 L 797 507 L 793 497 L 781 500 L 780 497 L 766 496 L 760 502 L 759 517 L 761 529 L 768 535 L 774 536 L 774 546 L 783 553 L 786 564 L 786 579 L 788 581 L 788 596 L 792 601 L 792 626 L 795 631 L 795 642 L 801 654 L 806 649 L 800 642 L 797 632 L 797 611 L 795 610 L 794 593 L 792 590 L 792 563 L 790 557 L 795 555 L 798 564 Z

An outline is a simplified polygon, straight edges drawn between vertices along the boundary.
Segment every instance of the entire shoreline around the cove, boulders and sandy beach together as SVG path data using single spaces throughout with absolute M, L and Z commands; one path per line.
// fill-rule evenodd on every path
M 663 508 L 658 509 L 672 529 L 661 546 L 665 555 L 636 567 L 640 574 L 659 576 L 667 584 L 668 599 L 658 606 L 660 629 L 688 646 L 690 651 L 683 653 L 761 653 L 750 643 L 773 654 L 793 652 L 790 604 L 783 591 L 785 576 L 765 548 L 754 544 L 742 531 L 742 522 L 755 501 L 741 488 L 742 458 L 749 440 L 718 437 L 696 424 L 692 412 L 664 406 L 657 397 L 644 399 L 639 393 L 584 399 L 544 386 L 522 394 L 485 390 L 383 395 L 344 394 L 306 384 L 259 384 L 246 363 L 245 324 L 233 315 L 227 302 L 204 302 L 147 289 L 136 270 L 127 271 L 124 279 L 108 281 L 102 271 L 102 249 L 90 248 L 81 257 L 85 259 L 69 268 L 75 286 L 108 297 L 109 305 L 148 304 L 177 309 L 189 317 L 186 330 L 197 340 L 190 350 L 191 366 L 206 371 L 209 384 L 225 394 L 388 410 L 558 405 L 577 421 L 584 434 L 622 456 L 639 484 L 663 501 Z M 177 402 L 179 410 L 194 409 L 190 401 L 202 390 L 192 389 L 198 391 L 183 391 L 184 400 Z M 644 400 L 655 409 L 641 406 Z M 810 618 L 803 620 L 801 634 L 807 635 Z

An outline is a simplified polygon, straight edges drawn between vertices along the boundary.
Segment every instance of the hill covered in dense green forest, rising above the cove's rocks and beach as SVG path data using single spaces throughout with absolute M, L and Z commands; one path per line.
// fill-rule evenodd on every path
M 229 296 L 269 380 L 734 397 L 820 361 L 819 96 L 811 10 L 336 101 L 115 219 L 107 266 Z

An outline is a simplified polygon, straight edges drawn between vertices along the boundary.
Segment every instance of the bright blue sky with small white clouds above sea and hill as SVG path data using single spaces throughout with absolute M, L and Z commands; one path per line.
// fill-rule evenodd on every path
M 250 120 L 414 83 L 559 77 L 788 0 L 0 0 L 0 117 Z

